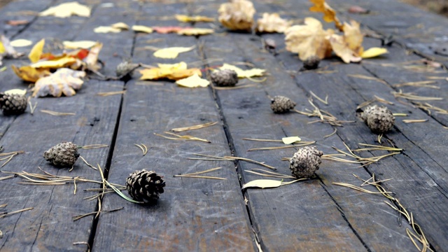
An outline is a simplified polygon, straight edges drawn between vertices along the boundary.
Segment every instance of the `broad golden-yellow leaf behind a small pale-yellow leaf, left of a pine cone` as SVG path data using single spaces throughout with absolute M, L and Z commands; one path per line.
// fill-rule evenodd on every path
M 159 67 L 152 69 L 140 70 L 140 80 L 158 80 L 160 78 L 168 78 L 170 80 L 180 80 L 193 76 L 195 73 L 202 76 L 201 69 L 187 69 L 185 62 L 176 64 L 158 64 Z

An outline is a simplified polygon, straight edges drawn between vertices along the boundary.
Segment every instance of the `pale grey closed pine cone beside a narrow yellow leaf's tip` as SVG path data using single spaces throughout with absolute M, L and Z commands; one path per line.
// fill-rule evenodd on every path
M 322 155 L 314 146 L 300 148 L 289 161 L 289 169 L 297 178 L 311 178 L 321 165 Z

